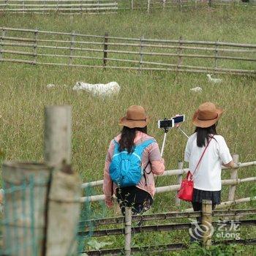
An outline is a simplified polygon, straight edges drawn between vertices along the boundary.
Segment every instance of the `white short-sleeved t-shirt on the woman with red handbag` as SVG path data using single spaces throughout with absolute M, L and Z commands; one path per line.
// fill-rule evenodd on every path
M 189 162 L 189 170 L 193 174 L 195 167 L 203 154 L 205 146 L 197 146 L 197 133 L 194 133 L 187 140 L 184 160 Z M 227 148 L 225 139 L 220 135 L 214 135 L 206 149 L 200 165 L 193 176 L 194 188 L 208 191 L 219 191 L 222 189 L 222 163 L 232 161 L 230 151 Z

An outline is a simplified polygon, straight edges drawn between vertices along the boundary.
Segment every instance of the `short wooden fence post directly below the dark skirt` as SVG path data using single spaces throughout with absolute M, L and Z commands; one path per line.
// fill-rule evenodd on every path
M 211 236 L 213 235 L 213 226 L 211 225 L 212 202 L 211 200 L 202 201 L 202 229 L 203 246 L 211 246 Z

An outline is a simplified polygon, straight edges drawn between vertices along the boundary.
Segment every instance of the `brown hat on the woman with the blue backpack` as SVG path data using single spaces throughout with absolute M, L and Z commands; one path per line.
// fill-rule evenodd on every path
M 120 119 L 119 125 L 124 127 L 135 128 L 135 127 L 146 127 L 148 124 L 148 116 L 143 107 L 138 105 L 132 105 L 127 109 L 127 116 Z

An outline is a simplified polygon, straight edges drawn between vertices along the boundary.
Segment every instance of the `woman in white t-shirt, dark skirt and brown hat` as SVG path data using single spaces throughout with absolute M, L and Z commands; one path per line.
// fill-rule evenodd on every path
M 217 121 L 222 113 L 223 110 L 217 108 L 214 103 L 205 102 L 199 106 L 193 116 L 195 133 L 187 141 L 184 159 L 189 162 L 189 170 L 194 181 L 192 197 L 194 211 L 202 210 L 204 199 L 212 201 L 212 208 L 220 203 L 222 165 L 234 167 L 225 139 L 217 135 L 216 131 Z M 200 222 L 200 219 L 197 221 Z M 191 240 L 199 238 L 200 234 L 193 233 Z

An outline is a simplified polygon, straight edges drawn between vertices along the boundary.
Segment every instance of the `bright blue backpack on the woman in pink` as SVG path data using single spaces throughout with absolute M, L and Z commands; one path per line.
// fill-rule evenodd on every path
M 120 152 L 119 144 L 114 140 L 115 148 L 109 170 L 110 178 L 118 187 L 136 186 L 140 182 L 144 174 L 141 159 L 143 151 L 154 142 L 154 139 L 143 141 L 135 146 L 132 153 L 128 153 L 127 150 Z

